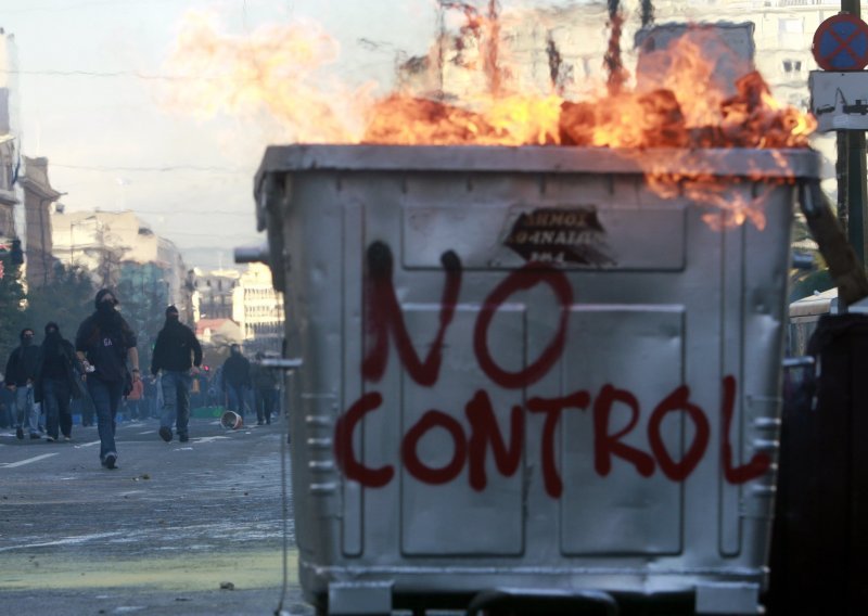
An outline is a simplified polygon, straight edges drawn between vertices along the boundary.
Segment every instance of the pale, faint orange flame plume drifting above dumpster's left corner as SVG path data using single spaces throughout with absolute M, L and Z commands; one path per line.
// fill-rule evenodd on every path
M 318 24 L 267 25 L 243 37 L 220 29 L 212 13 L 184 15 L 165 61 L 167 73 L 182 77 L 170 82 L 164 105 L 201 118 L 264 112 L 289 141 L 358 141 L 363 127 L 353 107 L 369 104 L 371 86 L 322 85 L 340 44 Z

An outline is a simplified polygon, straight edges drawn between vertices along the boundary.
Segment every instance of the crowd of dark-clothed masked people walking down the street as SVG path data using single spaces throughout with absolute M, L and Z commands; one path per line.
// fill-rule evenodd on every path
M 94 311 L 67 341 L 55 322 L 36 331 L 24 328 L 20 344 L 0 374 L 0 428 L 14 427 L 23 440 L 69 441 L 73 426 L 97 425 L 100 461 L 116 469 L 114 439 L 118 422 L 157 420 L 159 437 L 189 440 L 190 416 L 217 418 L 234 411 L 244 424 L 270 424 L 282 414 L 279 373 L 257 354 L 251 362 L 239 345 L 217 370 L 202 365 L 202 347 L 180 322 L 175 306 L 153 346 L 150 370 L 142 374 L 138 341 L 117 310 L 119 300 L 101 290 Z

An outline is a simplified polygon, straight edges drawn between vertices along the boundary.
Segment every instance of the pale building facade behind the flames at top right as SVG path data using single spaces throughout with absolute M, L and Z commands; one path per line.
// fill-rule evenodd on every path
M 495 3 L 497 4 L 497 3 Z M 552 3 L 553 4 L 553 3 Z M 399 85 L 413 93 L 472 101 L 480 92 L 549 93 L 567 99 L 599 90 L 607 73 L 609 2 L 500 11 L 489 26 L 488 0 L 439 1 L 441 36 L 426 56 L 399 64 Z M 622 53 L 635 64 L 633 41 L 642 27 L 640 2 L 622 2 Z M 841 11 L 840 0 L 655 0 L 652 23 L 750 22 L 755 64 L 787 104 L 807 110 L 807 77 L 817 68 L 814 33 Z

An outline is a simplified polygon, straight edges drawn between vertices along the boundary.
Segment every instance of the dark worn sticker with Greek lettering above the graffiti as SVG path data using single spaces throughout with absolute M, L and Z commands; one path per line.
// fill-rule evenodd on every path
M 527 261 L 614 266 L 605 239 L 593 208 L 541 208 L 521 214 L 503 243 Z

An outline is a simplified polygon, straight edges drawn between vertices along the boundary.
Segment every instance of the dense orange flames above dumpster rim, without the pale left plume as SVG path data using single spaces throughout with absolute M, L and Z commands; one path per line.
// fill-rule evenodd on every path
M 610 88 L 572 102 L 558 94 L 469 97 L 461 107 L 408 95 L 379 103 L 367 143 L 483 145 L 562 144 L 596 147 L 806 147 L 816 123 L 779 104 L 762 76 L 722 82 L 707 47 L 709 29 L 678 39 L 643 59 L 641 87 Z M 731 51 L 728 51 L 732 55 Z M 621 82 L 621 79 L 618 79 Z M 473 110 L 473 111 L 469 111 Z

